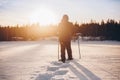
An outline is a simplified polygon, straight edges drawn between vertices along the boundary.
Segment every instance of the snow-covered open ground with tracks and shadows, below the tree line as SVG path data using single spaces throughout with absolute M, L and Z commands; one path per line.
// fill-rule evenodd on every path
M 0 80 L 120 80 L 120 42 L 72 43 L 73 61 L 58 62 L 57 41 L 0 42 Z

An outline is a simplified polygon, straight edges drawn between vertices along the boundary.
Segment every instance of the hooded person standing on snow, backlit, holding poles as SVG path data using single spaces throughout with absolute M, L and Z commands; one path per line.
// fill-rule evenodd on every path
M 58 35 L 61 46 L 61 61 L 65 63 L 65 50 L 68 53 L 68 60 L 72 60 L 71 39 L 74 34 L 74 27 L 67 15 L 63 15 L 63 18 L 58 26 Z

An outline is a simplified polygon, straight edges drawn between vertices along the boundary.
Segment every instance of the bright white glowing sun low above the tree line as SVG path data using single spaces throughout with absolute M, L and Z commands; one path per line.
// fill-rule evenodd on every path
M 42 26 L 46 26 L 50 24 L 56 24 L 57 18 L 52 10 L 41 7 L 39 9 L 36 9 L 30 15 L 30 23 L 39 23 Z

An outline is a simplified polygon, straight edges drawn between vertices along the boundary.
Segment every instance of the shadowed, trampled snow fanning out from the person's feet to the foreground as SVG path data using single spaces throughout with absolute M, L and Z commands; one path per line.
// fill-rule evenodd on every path
M 73 63 L 77 68 L 75 68 L 72 64 Z M 47 71 L 43 74 L 39 74 L 35 80 L 54 80 L 55 76 L 58 75 L 65 75 L 68 73 L 68 69 L 80 80 L 101 80 L 98 76 L 96 76 L 93 72 L 85 68 L 83 65 L 79 64 L 77 61 L 73 60 L 68 63 L 60 63 L 60 62 L 52 62 L 53 66 L 48 66 Z M 62 70 L 62 68 L 64 68 Z M 82 71 L 79 71 L 79 70 Z M 84 74 L 83 74 L 84 73 Z M 60 80 L 64 80 L 64 78 L 60 77 Z

